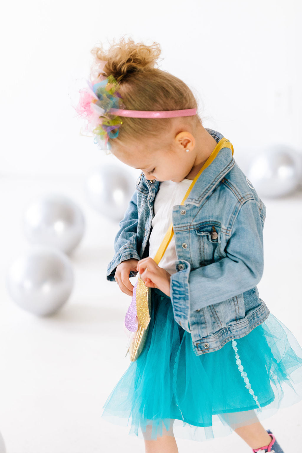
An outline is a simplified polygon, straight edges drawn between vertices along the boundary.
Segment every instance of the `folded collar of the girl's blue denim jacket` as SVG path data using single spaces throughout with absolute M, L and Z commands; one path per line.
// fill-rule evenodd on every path
M 218 143 L 224 136 L 213 129 L 206 130 Z M 211 193 L 216 186 L 220 183 L 221 179 L 232 169 L 235 165 L 235 159 L 232 156 L 232 150 L 230 148 L 221 148 L 219 153 L 213 162 L 203 170 L 196 183 L 194 184 L 191 192 L 189 193 L 185 204 L 192 203 L 199 205 L 209 193 Z M 144 173 L 141 174 L 141 181 L 139 187 L 143 193 L 154 192 L 157 193 L 159 189 L 160 181 L 154 181 L 151 183 L 145 178 Z

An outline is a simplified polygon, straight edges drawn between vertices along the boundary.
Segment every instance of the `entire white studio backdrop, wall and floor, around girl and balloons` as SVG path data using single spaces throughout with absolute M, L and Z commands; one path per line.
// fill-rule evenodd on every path
M 0 432 L 7 453 L 141 453 L 129 429 L 101 419 L 102 405 L 129 366 L 123 330 L 130 299 L 106 280 L 117 222 L 91 209 L 89 169 L 114 160 L 79 135 L 68 93 L 87 77 L 91 48 L 125 35 L 161 44 L 160 68 L 196 94 L 205 127 L 234 145 L 245 165 L 260 149 L 285 145 L 302 156 L 302 4 L 288 0 L 114 2 L 29 0 L 0 10 Z M 134 173 L 134 184 L 139 170 Z M 87 231 L 72 256 L 70 299 L 38 318 L 10 299 L 5 275 L 29 247 L 22 214 L 36 195 L 61 192 L 83 209 Z M 302 345 L 302 191 L 265 199 L 260 297 Z M 114 333 L 114 334 L 113 334 Z M 108 345 L 110 344 L 110 347 Z M 302 444 L 302 402 L 264 424 L 285 451 Z M 180 452 L 250 448 L 233 433 Z

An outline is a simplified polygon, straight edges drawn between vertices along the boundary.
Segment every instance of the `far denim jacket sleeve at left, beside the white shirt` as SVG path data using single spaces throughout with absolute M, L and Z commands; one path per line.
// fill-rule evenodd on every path
M 119 222 L 120 229 L 114 240 L 115 255 L 107 267 L 107 280 L 115 281 L 115 269 L 122 261 L 135 258 L 140 260 L 137 252 L 137 224 L 139 214 L 137 210 L 137 189 L 129 201 L 123 219 Z M 129 277 L 134 277 L 137 272 L 130 271 Z

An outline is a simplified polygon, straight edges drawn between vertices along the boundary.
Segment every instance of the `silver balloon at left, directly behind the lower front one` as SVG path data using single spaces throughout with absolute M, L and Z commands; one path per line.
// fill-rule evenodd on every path
M 70 198 L 50 194 L 29 204 L 23 227 L 32 244 L 53 246 L 69 254 L 83 237 L 85 220 L 81 208 Z

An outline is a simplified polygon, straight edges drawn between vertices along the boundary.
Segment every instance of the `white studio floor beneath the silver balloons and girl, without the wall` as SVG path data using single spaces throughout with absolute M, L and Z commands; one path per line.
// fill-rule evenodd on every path
M 107 396 L 129 366 L 124 318 L 130 298 L 105 275 L 117 222 L 87 205 L 81 181 L 2 178 L 0 184 L 0 432 L 7 453 L 143 453 L 144 441 L 129 436 L 129 427 L 101 419 Z M 21 225 L 24 208 L 36 194 L 54 191 L 79 203 L 87 227 L 71 256 L 75 284 L 70 299 L 52 317 L 38 318 L 10 299 L 5 279 L 10 263 L 30 247 Z M 302 344 L 302 193 L 264 202 L 260 297 Z M 302 402 L 264 424 L 278 434 L 285 453 L 301 451 L 301 414 Z M 182 453 L 251 451 L 235 433 L 203 443 L 178 439 L 177 444 Z

